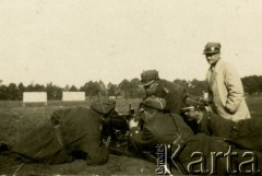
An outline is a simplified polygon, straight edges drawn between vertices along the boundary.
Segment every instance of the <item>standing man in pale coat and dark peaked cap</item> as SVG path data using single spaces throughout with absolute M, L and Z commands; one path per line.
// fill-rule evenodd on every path
M 211 64 L 206 81 L 209 101 L 213 109 L 226 119 L 238 121 L 250 118 L 245 101 L 243 87 L 236 69 L 221 60 L 221 44 L 207 43 L 203 55 Z

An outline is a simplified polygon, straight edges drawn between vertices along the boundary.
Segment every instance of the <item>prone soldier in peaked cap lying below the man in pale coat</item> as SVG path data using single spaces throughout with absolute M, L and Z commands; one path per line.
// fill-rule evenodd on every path
M 199 132 L 231 140 L 239 148 L 262 151 L 261 115 L 233 121 L 211 112 L 201 102 L 190 99 L 187 101 L 182 112 L 188 119 L 199 124 Z

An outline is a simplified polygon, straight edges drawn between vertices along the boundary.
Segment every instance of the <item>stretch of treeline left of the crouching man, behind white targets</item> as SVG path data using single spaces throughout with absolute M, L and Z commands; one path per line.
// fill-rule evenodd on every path
M 127 98 L 143 97 L 144 91 L 140 86 L 140 80 L 133 79 L 131 81 L 123 80 L 120 84 L 108 83 L 104 84 L 103 81 L 90 81 L 86 82 L 83 86 L 76 87 L 75 85 L 66 85 L 60 87 L 52 84 L 52 82 L 43 85 L 43 84 L 29 84 L 24 85 L 22 82 L 17 85 L 15 83 L 10 83 L 4 85 L 0 80 L 0 99 L 1 101 L 22 101 L 23 92 L 47 92 L 48 101 L 61 99 L 62 92 L 85 92 L 86 96 L 123 96 Z

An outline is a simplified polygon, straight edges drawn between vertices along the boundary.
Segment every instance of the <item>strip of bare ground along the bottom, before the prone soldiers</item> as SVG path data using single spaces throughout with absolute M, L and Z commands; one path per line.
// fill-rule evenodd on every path
M 83 160 L 59 165 L 23 164 L 11 156 L 0 156 L 0 175 L 155 175 L 154 163 L 110 154 L 105 165 L 90 166 Z M 4 162 L 3 162 L 4 161 Z

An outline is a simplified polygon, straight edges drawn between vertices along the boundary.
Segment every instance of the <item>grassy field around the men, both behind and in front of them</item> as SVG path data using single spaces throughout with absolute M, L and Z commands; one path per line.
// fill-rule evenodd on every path
M 129 104 L 135 109 L 140 99 L 119 99 L 117 109 L 128 113 Z M 262 114 L 262 97 L 247 97 L 250 112 Z M 84 103 L 48 102 L 44 105 L 22 106 L 22 102 L 0 102 L 0 140 L 20 140 L 23 134 L 33 128 L 49 120 L 51 113 L 58 108 L 73 106 L 88 106 Z M 22 166 L 22 167 L 20 167 Z M 24 164 L 8 155 L 0 155 L 0 175 L 154 175 L 155 165 L 147 161 L 134 157 L 110 155 L 108 163 L 102 166 L 87 166 L 85 161 L 60 165 Z M 176 174 L 176 173 L 175 173 Z M 177 173 L 179 175 L 179 173 Z

